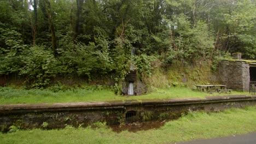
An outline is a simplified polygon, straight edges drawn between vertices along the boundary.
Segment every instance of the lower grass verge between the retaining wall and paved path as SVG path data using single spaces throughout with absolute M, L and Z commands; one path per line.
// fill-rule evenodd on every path
M 189 113 L 164 127 L 132 133 L 115 133 L 103 127 L 61 130 L 19 130 L 1 134 L 1 143 L 170 143 L 246 134 L 256 131 L 256 107 L 219 113 Z

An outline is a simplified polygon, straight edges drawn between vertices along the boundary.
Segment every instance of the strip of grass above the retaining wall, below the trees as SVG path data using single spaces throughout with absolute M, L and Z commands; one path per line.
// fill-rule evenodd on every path
M 248 92 L 235 92 L 229 95 L 247 95 Z M 195 92 L 190 88 L 171 87 L 154 88 L 145 95 L 130 96 L 115 95 L 106 88 L 73 88 L 67 91 L 53 92 L 49 89 L 15 89 L 0 87 L 0 104 L 36 104 L 36 103 L 67 103 L 78 101 L 109 101 L 129 99 L 170 99 L 170 98 L 204 98 L 206 96 L 228 95 L 226 93 Z

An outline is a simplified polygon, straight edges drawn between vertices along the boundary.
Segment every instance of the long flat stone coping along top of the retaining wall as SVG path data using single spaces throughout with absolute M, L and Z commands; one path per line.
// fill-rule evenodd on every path
M 67 110 L 88 110 L 88 109 L 123 109 L 124 106 L 132 105 L 186 105 L 200 103 L 224 103 L 228 101 L 256 101 L 256 96 L 229 95 L 218 97 L 200 98 L 179 98 L 179 99 L 150 99 L 150 100 L 117 100 L 117 101 L 92 101 L 78 103 L 55 103 L 55 104 L 11 104 L 0 105 L 0 113 L 18 111 L 67 111 Z

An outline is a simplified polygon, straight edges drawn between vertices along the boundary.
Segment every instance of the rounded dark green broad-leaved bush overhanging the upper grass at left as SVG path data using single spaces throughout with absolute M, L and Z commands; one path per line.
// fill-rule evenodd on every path
M 59 62 L 53 53 L 44 47 L 31 47 L 22 52 L 20 75 L 27 76 L 27 83 L 32 88 L 45 87 L 50 78 L 59 73 Z

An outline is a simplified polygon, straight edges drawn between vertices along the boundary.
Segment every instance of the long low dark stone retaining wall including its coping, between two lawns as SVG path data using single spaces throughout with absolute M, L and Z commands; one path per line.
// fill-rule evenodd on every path
M 190 111 L 219 111 L 255 104 L 256 96 L 236 95 L 206 99 L 0 105 L 0 128 L 1 131 L 8 131 L 11 125 L 22 129 L 43 128 L 44 122 L 48 123 L 49 129 L 63 128 L 65 125 L 86 126 L 95 122 L 116 125 L 125 123 L 126 113 L 131 111 L 136 112 L 132 115 L 133 121 L 141 122 L 174 119 Z

